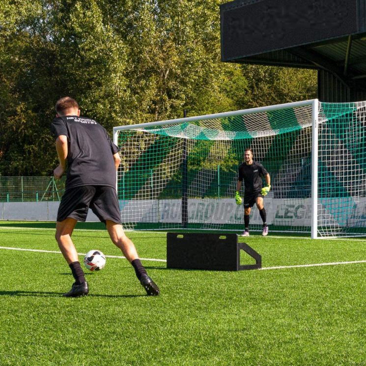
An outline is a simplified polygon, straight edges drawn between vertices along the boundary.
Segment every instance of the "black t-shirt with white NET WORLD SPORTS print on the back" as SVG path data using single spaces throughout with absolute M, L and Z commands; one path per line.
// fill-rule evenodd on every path
M 55 139 L 68 138 L 66 189 L 82 185 L 107 185 L 115 188 L 113 154 L 119 149 L 106 129 L 86 117 L 57 117 L 51 123 Z

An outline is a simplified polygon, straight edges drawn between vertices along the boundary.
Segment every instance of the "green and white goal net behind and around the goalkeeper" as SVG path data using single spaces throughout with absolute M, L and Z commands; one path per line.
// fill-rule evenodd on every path
M 270 232 L 310 233 L 313 105 L 318 115 L 317 235 L 366 232 L 366 102 L 282 104 L 114 128 L 127 230 L 242 232 L 234 194 L 246 148 L 270 173 Z M 242 190 L 243 196 L 244 191 Z M 250 231 L 262 221 L 254 206 Z

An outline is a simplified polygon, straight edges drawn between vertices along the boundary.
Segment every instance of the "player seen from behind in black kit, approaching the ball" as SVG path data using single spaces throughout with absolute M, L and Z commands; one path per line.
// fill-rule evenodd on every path
M 159 295 L 159 287 L 147 275 L 135 245 L 123 231 L 116 184 L 116 170 L 120 163 L 119 149 L 108 132 L 94 120 L 80 117 L 76 100 L 64 97 L 56 102 L 56 118 L 51 131 L 56 138 L 59 165 L 54 170 L 56 179 L 66 174 L 66 188 L 62 196 L 56 223 L 56 240 L 69 265 L 75 282 L 66 297 L 89 293 L 78 253 L 71 240 L 77 221 L 85 221 L 90 208 L 105 223 L 113 244 L 122 250 L 135 269 L 147 295 Z

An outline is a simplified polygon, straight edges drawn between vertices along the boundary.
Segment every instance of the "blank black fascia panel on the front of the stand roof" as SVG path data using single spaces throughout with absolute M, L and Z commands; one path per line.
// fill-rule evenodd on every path
M 244 1 L 223 4 L 222 61 L 356 33 L 356 1 L 259 0 L 248 5 L 241 5 Z

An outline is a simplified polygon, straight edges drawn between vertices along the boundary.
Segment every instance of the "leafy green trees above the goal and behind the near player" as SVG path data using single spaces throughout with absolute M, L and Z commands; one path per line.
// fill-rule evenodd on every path
M 52 173 L 65 95 L 110 133 L 313 97 L 313 71 L 220 61 L 220 2 L 1 1 L 0 174 Z

